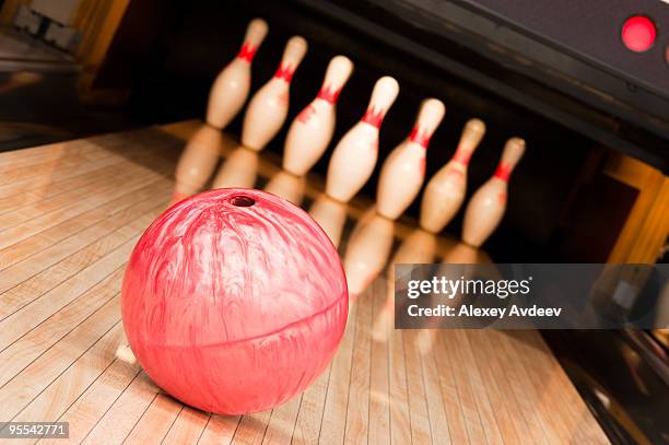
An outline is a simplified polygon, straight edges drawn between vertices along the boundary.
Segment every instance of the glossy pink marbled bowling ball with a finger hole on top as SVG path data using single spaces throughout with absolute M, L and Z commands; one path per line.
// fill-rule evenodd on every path
M 204 411 L 242 414 L 303 391 L 343 335 L 337 249 L 302 209 L 251 189 L 190 197 L 151 224 L 126 269 L 124 327 L 146 374 Z

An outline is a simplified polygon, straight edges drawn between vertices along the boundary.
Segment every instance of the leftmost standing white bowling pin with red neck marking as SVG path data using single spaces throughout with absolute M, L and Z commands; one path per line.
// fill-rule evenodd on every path
M 266 35 L 267 22 L 251 20 L 239 54 L 214 80 L 207 106 L 207 122 L 212 127 L 223 129 L 244 106 L 250 89 L 250 65 Z

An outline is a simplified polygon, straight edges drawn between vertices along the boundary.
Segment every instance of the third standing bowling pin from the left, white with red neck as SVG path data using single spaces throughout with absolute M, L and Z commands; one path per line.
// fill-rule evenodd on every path
M 283 152 L 285 171 L 302 176 L 322 156 L 334 132 L 334 104 L 352 71 L 353 63 L 344 56 L 337 56 L 330 61 L 318 95 L 297 115 L 289 129 Z

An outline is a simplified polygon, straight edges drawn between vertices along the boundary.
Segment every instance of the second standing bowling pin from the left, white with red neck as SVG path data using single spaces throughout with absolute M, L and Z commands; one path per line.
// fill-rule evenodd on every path
M 291 37 L 283 50 L 281 65 L 254 95 L 244 115 L 242 143 L 253 150 L 262 150 L 283 126 L 289 110 L 291 80 L 307 50 L 300 36 Z

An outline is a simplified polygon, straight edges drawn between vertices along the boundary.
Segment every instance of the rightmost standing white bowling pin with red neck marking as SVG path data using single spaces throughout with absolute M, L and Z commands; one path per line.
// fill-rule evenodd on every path
M 494 232 L 506 210 L 508 178 L 525 153 L 525 141 L 512 138 L 506 142 L 495 175 L 471 197 L 465 211 L 462 241 L 479 247 Z

